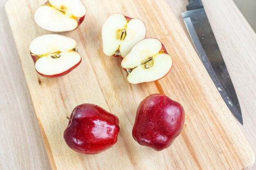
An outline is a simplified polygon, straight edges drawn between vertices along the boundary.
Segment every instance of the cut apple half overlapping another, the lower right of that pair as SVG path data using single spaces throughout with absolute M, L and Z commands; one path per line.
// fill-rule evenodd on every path
M 164 45 L 155 38 L 146 38 L 132 47 L 121 62 L 126 69 L 128 82 L 152 82 L 166 76 L 173 66 Z

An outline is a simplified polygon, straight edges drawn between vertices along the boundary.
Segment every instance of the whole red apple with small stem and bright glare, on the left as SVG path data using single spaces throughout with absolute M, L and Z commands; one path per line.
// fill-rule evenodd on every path
M 83 154 L 98 154 L 117 143 L 119 119 L 94 104 L 74 108 L 64 131 L 66 144 Z

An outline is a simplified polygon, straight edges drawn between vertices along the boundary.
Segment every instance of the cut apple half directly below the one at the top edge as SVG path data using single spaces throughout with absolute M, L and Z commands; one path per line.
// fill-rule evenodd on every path
M 63 35 L 39 36 L 30 43 L 29 50 L 36 71 L 44 77 L 66 75 L 81 63 L 76 41 Z

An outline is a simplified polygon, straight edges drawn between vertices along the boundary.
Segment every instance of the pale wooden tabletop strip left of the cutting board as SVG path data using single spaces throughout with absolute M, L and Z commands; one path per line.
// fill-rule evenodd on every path
M 0 170 L 49 170 L 5 2 L 0 0 Z

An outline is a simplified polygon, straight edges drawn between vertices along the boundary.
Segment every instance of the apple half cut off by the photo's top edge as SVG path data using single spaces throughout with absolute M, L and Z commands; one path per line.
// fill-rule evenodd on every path
M 81 0 L 49 0 L 36 9 L 34 20 L 48 31 L 72 31 L 83 22 L 85 13 Z

